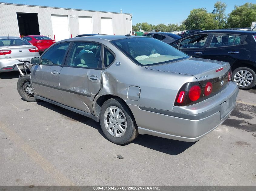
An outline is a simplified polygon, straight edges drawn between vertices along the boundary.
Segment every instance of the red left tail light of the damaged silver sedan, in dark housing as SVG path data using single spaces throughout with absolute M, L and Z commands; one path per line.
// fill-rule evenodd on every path
M 179 90 L 175 106 L 188 106 L 204 100 L 202 87 L 199 82 L 188 82 Z

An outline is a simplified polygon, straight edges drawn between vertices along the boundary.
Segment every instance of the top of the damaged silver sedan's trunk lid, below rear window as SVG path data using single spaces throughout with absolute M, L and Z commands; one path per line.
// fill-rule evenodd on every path
M 177 62 L 146 66 L 146 68 L 163 72 L 193 75 L 200 82 L 225 75 L 230 69 L 230 65 L 228 62 L 191 57 L 189 59 L 180 60 Z M 219 68 L 223 69 L 219 72 L 216 72 L 216 70 Z

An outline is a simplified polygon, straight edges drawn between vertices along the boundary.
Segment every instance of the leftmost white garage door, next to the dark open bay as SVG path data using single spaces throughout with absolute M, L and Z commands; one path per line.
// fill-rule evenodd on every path
M 70 38 L 68 15 L 52 14 L 52 30 L 56 41 Z

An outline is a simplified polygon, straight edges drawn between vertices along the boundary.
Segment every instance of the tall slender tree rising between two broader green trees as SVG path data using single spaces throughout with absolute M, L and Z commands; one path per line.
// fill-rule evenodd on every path
M 226 20 L 226 15 L 225 11 L 227 8 L 226 3 L 222 3 L 221 1 L 217 1 L 214 4 L 214 10 L 212 13 L 215 16 L 215 20 L 218 21 L 218 28 L 223 28 L 225 26 L 225 20 Z

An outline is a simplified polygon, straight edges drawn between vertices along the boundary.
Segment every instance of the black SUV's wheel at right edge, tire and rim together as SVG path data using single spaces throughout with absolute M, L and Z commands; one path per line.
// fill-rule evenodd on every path
M 232 73 L 232 81 L 238 85 L 239 89 L 251 89 L 256 84 L 255 71 L 248 67 L 236 68 Z

